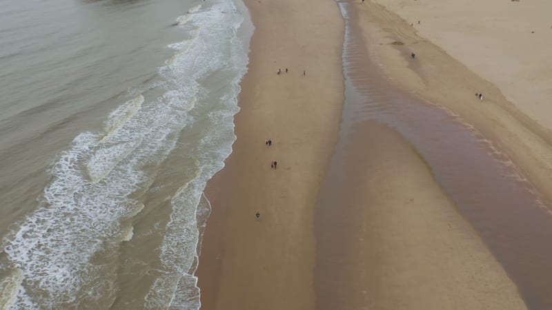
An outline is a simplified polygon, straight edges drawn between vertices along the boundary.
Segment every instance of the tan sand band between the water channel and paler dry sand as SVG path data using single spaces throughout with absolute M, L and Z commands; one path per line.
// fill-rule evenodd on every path
M 417 19 L 412 27 L 375 1 L 353 3 L 352 14 L 358 14 L 355 23 L 363 33 L 371 58 L 380 65 L 388 79 L 415 96 L 450 109 L 473 125 L 475 130 L 493 141 L 500 152 L 512 159 L 515 168 L 542 196 L 552 201 L 552 187 L 549 186 L 552 183 L 552 133 L 549 130 L 520 112 L 521 103 L 513 105 L 506 100 L 495 84 L 473 72 L 439 45 L 421 37 L 417 32 Z M 424 23 L 421 18 L 420 21 Z M 497 34 L 486 34 L 487 37 L 494 35 Z M 403 44 L 393 45 L 394 41 Z M 483 55 L 481 45 L 465 44 Z M 412 51 L 417 54 L 416 59 L 411 59 Z M 484 101 L 475 99 L 475 93 L 479 92 L 484 94 Z M 540 116 L 547 115 L 550 114 L 543 105 Z

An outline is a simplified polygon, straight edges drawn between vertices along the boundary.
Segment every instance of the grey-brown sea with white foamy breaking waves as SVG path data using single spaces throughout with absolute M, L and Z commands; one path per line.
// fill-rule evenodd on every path
M 3 1 L 2 309 L 199 308 L 252 34 L 231 0 Z

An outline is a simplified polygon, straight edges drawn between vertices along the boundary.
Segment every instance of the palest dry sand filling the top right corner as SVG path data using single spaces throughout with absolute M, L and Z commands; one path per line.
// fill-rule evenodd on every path
M 413 23 L 418 34 L 497 85 L 520 111 L 552 130 L 552 1 L 374 2 Z

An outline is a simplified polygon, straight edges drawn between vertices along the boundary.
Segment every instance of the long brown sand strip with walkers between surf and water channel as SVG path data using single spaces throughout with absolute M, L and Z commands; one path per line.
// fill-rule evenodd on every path
M 341 118 L 343 21 L 331 0 L 246 5 L 255 34 L 237 141 L 208 185 L 202 307 L 313 309 L 314 207 Z

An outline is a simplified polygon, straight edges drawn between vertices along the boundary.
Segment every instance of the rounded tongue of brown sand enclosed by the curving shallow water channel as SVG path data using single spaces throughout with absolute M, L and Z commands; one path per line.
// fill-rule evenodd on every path
M 400 134 L 366 122 L 350 141 L 321 195 L 317 309 L 525 309 Z

